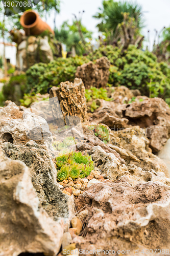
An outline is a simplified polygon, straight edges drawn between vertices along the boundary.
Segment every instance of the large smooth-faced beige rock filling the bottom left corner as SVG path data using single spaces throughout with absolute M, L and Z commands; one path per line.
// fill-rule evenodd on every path
M 29 168 L 11 160 L 0 149 L 0 254 L 59 252 L 64 223 L 56 222 L 42 208 L 31 182 Z

